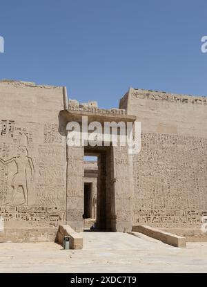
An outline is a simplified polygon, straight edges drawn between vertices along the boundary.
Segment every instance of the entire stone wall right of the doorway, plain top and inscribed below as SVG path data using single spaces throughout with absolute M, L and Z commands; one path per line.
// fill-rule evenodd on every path
M 135 224 L 201 230 L 207 98 L 130 89 L 119 107 L 141 121 L 141 152 L 133 156 Z

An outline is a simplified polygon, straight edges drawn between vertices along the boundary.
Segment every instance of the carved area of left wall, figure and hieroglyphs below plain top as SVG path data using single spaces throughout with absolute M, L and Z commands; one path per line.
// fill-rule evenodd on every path
M 66 214 L 66 157 L 58 124 L 0 120 L 0 216 L 6 226 L 56 226 Z

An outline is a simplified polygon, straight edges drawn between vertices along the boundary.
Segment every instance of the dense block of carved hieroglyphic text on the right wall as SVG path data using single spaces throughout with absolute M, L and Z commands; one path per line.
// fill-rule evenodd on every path
M 200 222 L 207 206 L 206 172 L 206 138 L 142 133 L 141 152 L 134 157 L 135 221 Z M 141 215 L 160 211 L 156 216 Z M 166 216 L 167 211 L 174 215 Z

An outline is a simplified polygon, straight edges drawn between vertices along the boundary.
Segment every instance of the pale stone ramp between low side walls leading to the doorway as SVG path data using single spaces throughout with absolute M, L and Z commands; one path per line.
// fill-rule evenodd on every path
M 161 241 L 150 237 L 137 236 L 123 232 L 81 232 L 84 250 L 153 250 L 172 249 Z

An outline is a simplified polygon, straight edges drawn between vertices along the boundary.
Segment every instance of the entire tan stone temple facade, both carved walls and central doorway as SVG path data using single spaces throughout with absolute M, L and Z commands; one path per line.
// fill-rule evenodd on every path
M 63 87 L 2 81 L 0 100 L 2 240 L 48 240 L 48 228 L 61 223 L 81 231 L 85 207 L 98 230 L 147 224 L 187 234 L 201 228 L 207 216 L 205 97 L 130 89 L 121 109 L 99 109 L 97 102 L 68 102 Z M 67 147 L 66 124 L 83 115 L 101 127 L 137 118 L 141 152 L 132 156 L 120 145 Z M 86 166 L 84 155 L 98 156 L 98 165 Z

